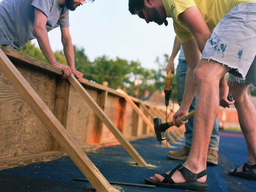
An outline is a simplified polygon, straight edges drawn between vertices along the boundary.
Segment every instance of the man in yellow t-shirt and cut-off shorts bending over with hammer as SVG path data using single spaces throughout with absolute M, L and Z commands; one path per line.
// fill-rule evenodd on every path
M 183 100 L 173 116 L 176 126 L 184 124 L 180 116 L 188 112 L 197 93 L 187 160 L 145 181 L 160 187 L 206 190 L 206 159 L 214 120 L 219 105 L 229 108 L 231 104 L 238 112 L 248 160 L 229 174 L 256 180 L 256 108 L 247 93 L 251 84 L 256 87 L 256 0 L 129 0 L 129 11 L 147 23 L 168 25 L 166 18 L 173 19 L 188 62 Z M 228 92 L 233 101 L 227 100 Z

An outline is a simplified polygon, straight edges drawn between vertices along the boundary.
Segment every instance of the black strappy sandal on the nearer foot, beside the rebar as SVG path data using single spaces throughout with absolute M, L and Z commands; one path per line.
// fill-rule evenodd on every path
M 184 176 L 185 180 L 187 181 L 186 183 L 180 183 L 180 184 L 174 183 L 174 181 L 172 180 L 172 175 L 176 170 L 179 170 L 182 176 Z M 207 175 L 206 169 L 200 173 L 193 173 L 187 168 L 185 168 L 182 164 L 179 164 L 178 166 L 176 166 L 176 168 L 172 169 L 172 171 L 169 174 L 162 173 L 160 175 L 164 177 L 163 182 L 153 181 L 150 179 L 145 179 L 145 182 L 147 184 L 156 185 L 157 187 L 165 187 L 165 188 L 179 188 L 179 189 L 194 190 L 194 191 L 205 191 L 208 189 L 208 184 L 206 183 L 201 184 L 196 181 L 198 178 L 201 178 Z

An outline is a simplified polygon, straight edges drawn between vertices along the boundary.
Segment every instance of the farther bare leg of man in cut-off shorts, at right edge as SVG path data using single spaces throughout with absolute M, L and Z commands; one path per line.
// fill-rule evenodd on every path
M 247 144 L 247 163 L 254 165 L 256 164 L 256 108 L 247 93 L 249 85 L 228 82 L 230 93 L 235 100 L 234 105 L 238 113 L 240 127 Z M 242 167 L 237 168 L 237 172 L 242 172 Z M 252 171 L 256 173 L 256 169 Z

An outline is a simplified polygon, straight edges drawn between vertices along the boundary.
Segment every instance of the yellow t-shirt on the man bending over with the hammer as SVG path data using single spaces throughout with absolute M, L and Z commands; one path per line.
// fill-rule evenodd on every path
M 245 3 L 256 3 L 256 0 L 163 0 L 166 14 L 172 17 L 174 31 L 181 43 L 194 38 L 179 17 L 187 8 L 198 7 L 212 32 L 225 14 L 236 5 Z

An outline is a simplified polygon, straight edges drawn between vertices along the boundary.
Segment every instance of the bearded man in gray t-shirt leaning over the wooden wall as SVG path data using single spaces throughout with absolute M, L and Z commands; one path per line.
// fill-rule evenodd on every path
M 62 78 L 73 73 L 81 81 L 83 74 L 75 68 L 68 11 L 83 4 L 84 0 L 3 0 L 0 2 L 0 39 L 12 40 L 12 48 L 21 48 L 36 38 L 49 63 L 62 69 Z M 57 62 L 48 39 L 48 32 L 59 26 L 68 66 Z

